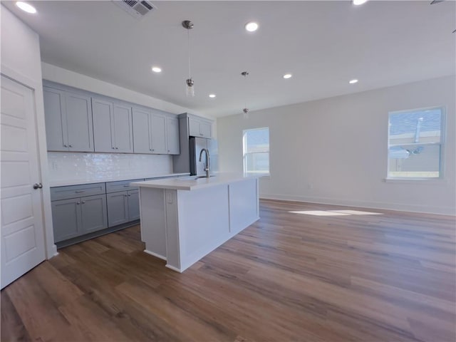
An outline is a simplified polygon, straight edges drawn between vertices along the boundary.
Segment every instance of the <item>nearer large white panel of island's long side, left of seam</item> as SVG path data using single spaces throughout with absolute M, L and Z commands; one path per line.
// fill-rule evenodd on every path
M 228 185 L 177 190 L 180 271 L 226 242 L 229 233 Z

